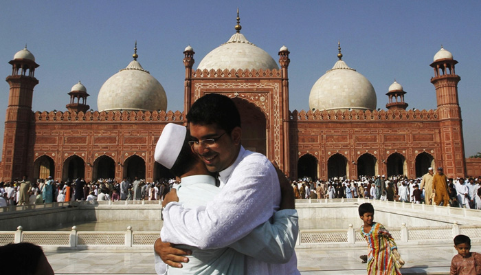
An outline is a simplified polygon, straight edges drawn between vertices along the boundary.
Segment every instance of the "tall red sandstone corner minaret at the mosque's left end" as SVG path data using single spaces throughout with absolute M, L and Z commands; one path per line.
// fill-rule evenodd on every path
M 38 64 L 34 55 L 25 49 L 17 52 L 13 60 L 12 75 L 6 81 L 10 85 L 8 107 L 3 137 L 3 181 L 12 181 L 31 172 L 32 159 L 27 159 L 32 120 L 32 96 L 38 80 L 34 72 Z

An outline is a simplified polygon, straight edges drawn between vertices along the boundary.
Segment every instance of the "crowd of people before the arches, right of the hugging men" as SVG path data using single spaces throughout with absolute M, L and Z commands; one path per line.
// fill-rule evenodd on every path
M 304 177 L 292 184 L 296 199 L 367 198 L 481 209 L 481 176 L 448 179 L 442 167 L 436 174 L 429 168 L 416 179 L 404 175 L 332 177 L 327 181 Z

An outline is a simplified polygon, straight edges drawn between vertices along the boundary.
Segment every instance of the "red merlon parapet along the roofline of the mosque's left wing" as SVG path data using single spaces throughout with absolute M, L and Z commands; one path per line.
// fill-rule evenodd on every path
M 179 122 L 184 118 L 181 111 L 36 111 L 34 113 L 36 122 L 100 122 L 100 121 L 122 121 L 122 122 Z

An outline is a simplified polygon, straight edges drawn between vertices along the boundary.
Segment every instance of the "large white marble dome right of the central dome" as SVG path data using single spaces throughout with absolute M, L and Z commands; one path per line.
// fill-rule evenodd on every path
M 309 94 L 309 109 L 376 109 L 377 97 L 368 78 L 339 59 L 319 78 Z

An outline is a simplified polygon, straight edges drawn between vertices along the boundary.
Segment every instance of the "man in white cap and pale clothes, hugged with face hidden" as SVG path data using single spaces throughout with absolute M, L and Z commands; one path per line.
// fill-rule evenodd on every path
M 214 199 L 221 189 L 216 187 L 215 178 L 210 175 L 201 159 L 194 155 L 187 142 L 185 126 L 167 124 L 157 142 L 155 160 L 170 168 L 176 177 L 181 177 L 181 183 L 175 185 L 179 203 L 186 208 L 197 208 Z M 294 251 L 295 236 L 298 234 L 298 227 L 294 225 L 297 221 L 297 212 L 293 209 L 276 212 L 273 225 L 266 222 L 258 226 L 245 238 L 230 245 L 230 248 L 199 250 L 187 245 L 179 246 L 193 252 L 189 263 L 181 269 L 168 267 L 155 254 L 155 270 L 157 274 L 240 275 L 244 274 L 243 254 L 266 261 L 286 261 L 286 257 L 290 258 Z M 294 238 L 291 239 L 291 236 Z M 278 238 L 287 241 L 281 244 Z

